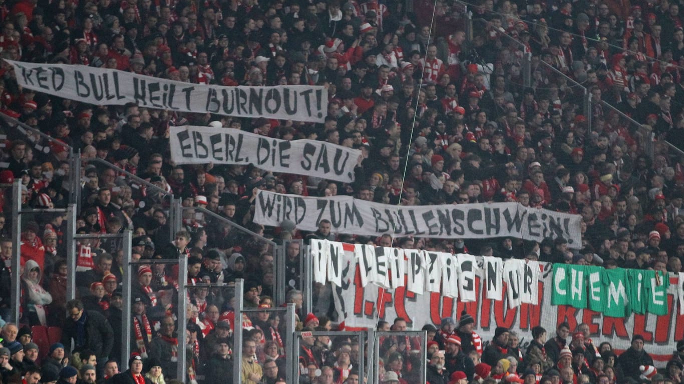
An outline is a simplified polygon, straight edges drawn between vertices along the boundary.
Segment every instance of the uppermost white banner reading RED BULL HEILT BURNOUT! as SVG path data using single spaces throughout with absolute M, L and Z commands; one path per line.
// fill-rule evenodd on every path
M 133 102 L 170 111 L 302 122 L 324 122 L 328 114 L 328 90 L 322 85 L 224 87 L 81 65 L 5 61 L 14 66 L 22 87 L 94 105 Z

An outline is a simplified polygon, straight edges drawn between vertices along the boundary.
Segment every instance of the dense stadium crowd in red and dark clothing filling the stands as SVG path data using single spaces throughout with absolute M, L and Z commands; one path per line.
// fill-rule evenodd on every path
M 133 260 L 187 257 L 187 325 L 177 324 L 178 270 L 151 264 L 133 277 L 135 354 L 121 355 L 122 251 L 111 239 L 79 240 L 77 299 L 66 299 L 62 213 L 23 223 L 10 240 L 10 190 L 0 196 L 0 315 L 10 313 L 10 258 L 21 247 L 21 321 L 0 337 L 1 383 L 231 383 L 235 327 L 232 288 L 244 278 L 248 308 L 273 307 L 274 250 L 280 243 L 329 238 L 501 258 L 592 264 L 677 273 L 684 261 L 684 18 L 670 0 L 478 0 L 472 36 L 464 4 L 400 1 L 0 1 L 0 57 L 81 64 L 189 83 L 325 85 L 323 124 L 179 113 L 125 105 L 84 105 L 21 89 L 0 64 L 0 112 L 57 141 L 5 125 L 0 184 L 22 180 L 26 208 L 64 208 L 65 180 L 81 178 L 79 234 L 133 230 Z M 433 12 L 434 11 L 434 12 Z M 432 27 L 431 27 L 432 25 Z M 512 36 L 509 38 L 508 36 Z M 524 45 L 525 49 L 519 49 Z M 521 57 L 531 54 L 531 86 Z M 592 94 L 591 125 L 581 83 Z M 609 108 L 601 103 L 614 107 Z M 643 124 L 629 124 L 620 111 Z M 169 127 L 237 128 L 280 139 L 317 139 L 358 148 L 356 182 L 274 174 L 241 165 L 174 165 Z M 644 152 L 655 136 L 653 158 Z M 68 147 L 80 151 L 70 175 Z M 102 159 L 114 166 L 93 161 Z M 183 199 L 183 229 L 172 236 L 164 193 L 130 182 L 122 170 Z M 304 233 L 292 223 L 252 222 L 258 189 L 306 196 L 353 195 L 402 205 L 518 202 L 582 217 L 583 247 L 557 238 L 439 240 Z M 198 215 L 202 207 L 222 219 Z M 246 236 L 236 223 L 259 236 Z M 327 305 L 302 313 L 300 243 L 287 245 L 287 301 L 298 329 L 329 330 L 342 319 Z M 225 288 L 192 288 L 200 282 Z M 14 283 L 16 284 L 16 282 Z M 325 291 L 316 287 L 321 294 Z M 586 325 L 514 330 L 494 340 L 473 333 L 472 314 L 445 318 L 428 331 L 428 381 L 525 384 L 679 384 L 684 342 L 658 373 L 633 335 L 619 356 L 590 339 Z M 4 323 L 3 320 L 0 320 Z M 38 351 L 31 326 L 60 327 L 61 342 Z M 244 316 L 243 382 L 285 383 L 282 318 Z M 240 325 L 238 325 L 240 326 Z M 413 325 L 419 328 L 422 325 Z M 436 329 L 436 327 L 438 329 Z M 380 322 L 405 331 L 405 319 Z M 187 345 L 176 335 L 185 331 Z M 555 334 L 553 334 L 555 332 Z M 364 380 L 352 366 L 364 346 L 345 338 L 302 338 L 301 383 Z M 70 348 L 71 345 L 74 348 Z M 176 377 L 179 348 L 188 370 Z M 407 384 L 421 365 L 408 338 L 382 339 L 382 383 Z M 127 364 L 127 366 L 124 366 Z M 120 372 L 121 371 L 121 372 Z

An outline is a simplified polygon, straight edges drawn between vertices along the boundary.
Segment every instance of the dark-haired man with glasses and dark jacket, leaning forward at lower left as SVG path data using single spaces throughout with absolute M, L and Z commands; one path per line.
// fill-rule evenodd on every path
M 78 299 L 66 303 L 66 312 L 62 344 L 69 346 L 73 340 L 75 350 L 90 349 L 98 363 L 104 365 L 114 345 L 114 331 L 105 316 L 97 311 L 83 310 L 83 303 Z

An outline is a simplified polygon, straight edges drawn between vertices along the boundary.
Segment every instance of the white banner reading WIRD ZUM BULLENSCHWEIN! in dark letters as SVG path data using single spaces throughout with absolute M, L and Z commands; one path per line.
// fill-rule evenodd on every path
M 314 219 L 315 218 L 315 219 Z M 581 216 L 511 203 L 393 206 L 350 196 L 302 197 L 259 191 L 254 221 L 278 226 L 291 220 L 299 230 L 314 232 L 319 221 L 332 232 L 397 237 L 493 238 L 513 236 L 541 242 L 562 237 L 568 247 L 582 246 Z M 429 260 L 428 260 L 429 261 Z

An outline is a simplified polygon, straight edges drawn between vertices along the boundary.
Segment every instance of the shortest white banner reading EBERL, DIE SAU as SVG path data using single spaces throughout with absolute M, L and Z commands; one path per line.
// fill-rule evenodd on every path
M 354 181 L 361 151 L 326 141 L 272 139 L 231 128 L 173 126 L 169 144 L 176 164 L 253 164 L 273 172 Z

